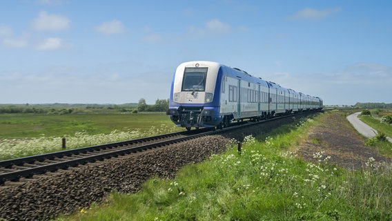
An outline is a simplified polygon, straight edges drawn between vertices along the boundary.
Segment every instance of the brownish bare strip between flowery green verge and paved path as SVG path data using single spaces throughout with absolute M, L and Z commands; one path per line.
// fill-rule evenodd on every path
M 391 164 L 391 159 L 366 146 L 362 137 L 346 119 L 344 112 L 327 113 L 311 129 L 308 139 L 297 148 L 297 153 L 309 161 L 317 161 L 313 153 L 330 156 L 329 162 L 347 169 L 361 169 L 366 162 Z

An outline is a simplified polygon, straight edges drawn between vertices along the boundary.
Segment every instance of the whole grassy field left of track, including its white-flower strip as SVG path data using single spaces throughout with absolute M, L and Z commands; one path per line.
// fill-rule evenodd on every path
M 165 113 L 0 114 L 0 160 L 182 131 Z

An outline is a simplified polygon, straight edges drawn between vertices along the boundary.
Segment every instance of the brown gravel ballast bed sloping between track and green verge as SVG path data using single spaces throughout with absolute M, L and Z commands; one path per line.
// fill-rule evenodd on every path
M 225 151 L 232 138 L 242 140 L 246 135 L 268 133 L 294 120 L 287 117 L 0 186 L 0 218 L 50 220 L 74 213 L 92 202 L 100 202 L 110 191 L 134 193 L 149 177 L 175 177 L 184 165 L 202 162 L 211 154 Z

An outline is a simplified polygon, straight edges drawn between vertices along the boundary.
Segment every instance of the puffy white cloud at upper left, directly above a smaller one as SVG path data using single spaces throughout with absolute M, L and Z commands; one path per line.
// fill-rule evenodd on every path
M 62 15 L 39 12 L 38 18 L 32 22 L 32 26 L 35 30 L 67 30 L 70 28 L 70 20 Z

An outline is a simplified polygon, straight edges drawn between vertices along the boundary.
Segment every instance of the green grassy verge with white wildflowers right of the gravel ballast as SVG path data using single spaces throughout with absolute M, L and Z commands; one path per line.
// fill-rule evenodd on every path
M 322 147 L 308 134 L 333 114 L 246 137 L 241 155 L 233 145 L 175 180 L 155 177 L 139 193 L 112 193 L 106 204 L 58 220 L 391 220 L 390 165 L 370 157 L 348 170 L 322 151 L 311 162 L 291 151 L 303 142 Z

